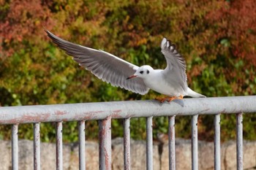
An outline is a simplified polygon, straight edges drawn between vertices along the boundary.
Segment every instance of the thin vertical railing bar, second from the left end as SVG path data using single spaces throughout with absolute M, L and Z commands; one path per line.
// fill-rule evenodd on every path
M 34 123 L 34 170 L 40 170 L 40 123 Z

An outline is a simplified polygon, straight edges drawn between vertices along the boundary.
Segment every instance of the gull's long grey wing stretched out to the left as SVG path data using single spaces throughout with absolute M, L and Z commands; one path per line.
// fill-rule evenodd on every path
M 127 77 L 135 74 L 138 66 L 124 61 L 115 55 L 106 53 L 105 51 L 94 50 L 89 47 L 67 42 L 50 33 L 50 31 L 46 31 L 46 33 L 58 47 L 66 51 L 68 55 L 72 55 L 73 59 L 78 62 L 80 66 L 84 66 L 99 79 L 110 82 L 113 86 L 125 88 L 135 93 L 148 93 L 149 89 L 142 79 L 135 78 L 127 80 Z

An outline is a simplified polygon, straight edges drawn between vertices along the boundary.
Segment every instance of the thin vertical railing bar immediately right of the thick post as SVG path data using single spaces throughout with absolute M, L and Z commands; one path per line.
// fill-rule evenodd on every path
M 129 120 L 130 118 L 124 119 L 124 170 L 131 169 Z

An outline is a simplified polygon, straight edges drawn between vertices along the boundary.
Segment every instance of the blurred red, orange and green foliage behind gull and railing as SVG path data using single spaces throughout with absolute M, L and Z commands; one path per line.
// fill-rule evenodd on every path
M 44 29 L 137 65 L 165 68 L 162 37 L 187 61 L 189 86 L 208 97 L 256 94 L 256 4 L 254 0 L 207 1 L 3 1 L 0 0 L 0 106 L 64 104 L 155 98 L 98 80 L 59 50 Z M 10 113 L 12 114 L 12 113 Z M 191 117 L 176 117 L 176 136 L 189 138 Z M 236 117 L 222 115 L 222 140 L 236 137 Z M 112 136 L 122 120 L 112 120 Z M 214 117 L 199 117 L 199 138 L 213 140 Z M 256 139 L 256 115 L 244 115 L 245 139 Z M 146 138 L 146 120 L 131 120 L 131 136 Z M 78 140 L 78 124 L 64 123 L 64 141 Z M 86 139 L 97 139 L 97 121 L 86 122 Z M 167 133 L 167 117 L 154 117 L 154 136 Z M 10 126 L 0 126 L 10 139 Z M 20 125 L 32 139 L 32 125 Z M 41 124 L 42 141 L 55 140 L 55 124 Z

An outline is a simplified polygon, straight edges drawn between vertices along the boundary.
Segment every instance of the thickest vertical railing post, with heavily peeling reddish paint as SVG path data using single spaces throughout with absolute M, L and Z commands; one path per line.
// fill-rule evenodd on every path
M 99 120 L 99 169 L 111 169 L 111 117 Z

